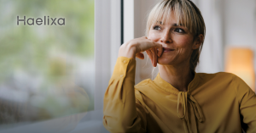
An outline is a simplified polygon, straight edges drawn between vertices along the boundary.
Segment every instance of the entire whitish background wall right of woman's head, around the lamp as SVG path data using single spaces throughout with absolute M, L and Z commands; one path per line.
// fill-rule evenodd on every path
M 201 9 L 207 26 L 206 40 L 197 72 L 224 71 L 227 47 L 249 47 L 255 52 L 255 0 L 194 0 L 194 2 Z

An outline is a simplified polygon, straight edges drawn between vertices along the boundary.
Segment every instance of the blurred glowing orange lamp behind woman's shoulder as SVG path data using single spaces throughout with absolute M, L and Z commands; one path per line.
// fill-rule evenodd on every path
M 253 51 L 249 48 L 229 48 L 225 71 L 233 73 L 244 80 L 255 91 L 255 75 L 253 68 Z

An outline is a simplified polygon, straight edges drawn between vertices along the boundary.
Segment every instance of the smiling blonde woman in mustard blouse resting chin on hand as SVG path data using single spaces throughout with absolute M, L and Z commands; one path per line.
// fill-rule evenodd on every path
M 205 37 L 189 0 L 164 0 L 150 12 L 147 37 L 125 42 L 104 97 L 111 132 L 256 132 L 256 96 L 236 75 L 195 73 Z M 146 51 L 154 80 L 135 85 L 135 58 Z

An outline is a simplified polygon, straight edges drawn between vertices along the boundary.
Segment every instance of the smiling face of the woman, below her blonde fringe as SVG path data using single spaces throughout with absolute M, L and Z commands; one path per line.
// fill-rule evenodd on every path
M 152 25 L 148 39 L 160 43 L 164 48 L 161 57 L 158 58 L 158 64 L 162 65 L 189 64 L 193 50 L 198 48 L 189 29 L 177 25 L 177 18 L 173 14 L 165 23 Z

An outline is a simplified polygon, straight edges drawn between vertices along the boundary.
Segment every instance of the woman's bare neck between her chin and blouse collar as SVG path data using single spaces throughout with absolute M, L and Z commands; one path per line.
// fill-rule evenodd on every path
M 181 66 L 160 65 L 160 77 L 166 80 L 178 91 L 188 91 L 189 83 L 193 80 L 194 75 L 189 69 L 189 64 Z

